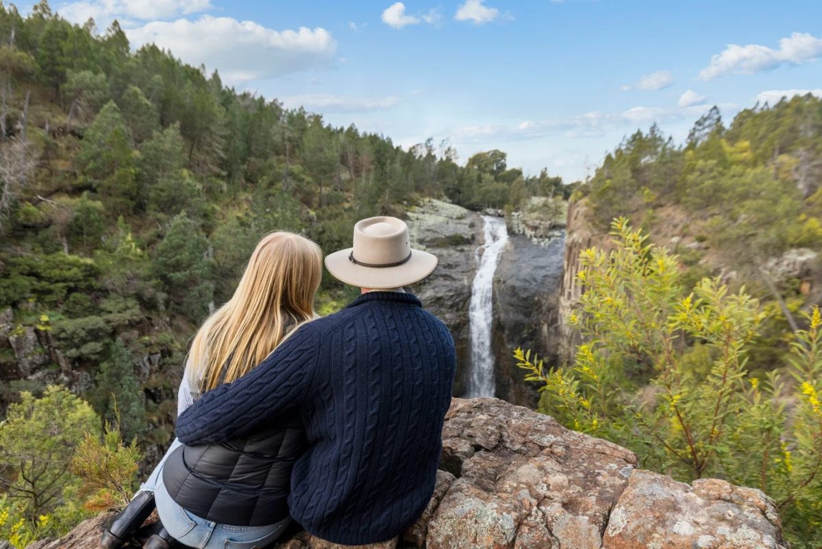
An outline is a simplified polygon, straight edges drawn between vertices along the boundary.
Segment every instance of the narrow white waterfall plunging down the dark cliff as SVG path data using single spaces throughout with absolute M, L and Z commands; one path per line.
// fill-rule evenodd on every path
M 508 242 L 506 220 L 483 215 L 485 243 L 477 274 L 471 287 L 469 324 L 471 334 L 471 371 L 468 396 L 494 396 L 494 355 L 491 352 L 491 329 L 494 322 L 494 273 L 502 248 Z

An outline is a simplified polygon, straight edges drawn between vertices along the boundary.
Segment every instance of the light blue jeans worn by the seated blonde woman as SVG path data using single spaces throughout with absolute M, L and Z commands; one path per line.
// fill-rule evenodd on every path
M 163 485 L 163 465 L 180 445 L 182 442 L 174 439 L 163 459 L 139 490 L 154 492 L 159 519 L 174 539 L 197 549 L 252 549 L 266 547 L 283 533 L 291 522 L 290 518 L 268 526 L 231 526 L 201 519 L 177 505 Z

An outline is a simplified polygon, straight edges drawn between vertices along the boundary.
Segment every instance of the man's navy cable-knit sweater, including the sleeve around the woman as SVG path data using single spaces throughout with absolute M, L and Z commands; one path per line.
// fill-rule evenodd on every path
M 455 368 L 446 325 L 418 298 L 366 293 L 204 394 L 178 418 L 177 436 L 229 441 L 298 410 L 311 447 L 291 475 L 293 518 L 330 542 L 381 542 L 431 498 Z

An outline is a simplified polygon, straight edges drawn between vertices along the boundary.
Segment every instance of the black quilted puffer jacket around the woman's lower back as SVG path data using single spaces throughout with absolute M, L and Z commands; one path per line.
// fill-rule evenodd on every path
M 298 414 L 246 438 L 211 445 L 182 445 L 163 467 L 174 501 L 219 524 L 264 526 L 289 514 L 293 463 L 308 441 Z

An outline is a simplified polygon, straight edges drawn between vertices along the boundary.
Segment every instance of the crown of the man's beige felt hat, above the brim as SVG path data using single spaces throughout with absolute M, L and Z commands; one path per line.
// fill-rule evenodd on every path
M 411 254 L 409 228 L 402 219 L 381 215 L 354 225 L 355 261 L 363 265 L 394 265 Z

